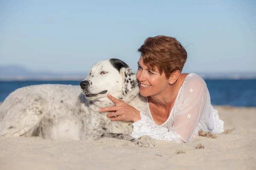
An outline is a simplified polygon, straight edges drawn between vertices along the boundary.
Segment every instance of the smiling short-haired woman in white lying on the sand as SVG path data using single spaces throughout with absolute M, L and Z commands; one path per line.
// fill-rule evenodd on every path
M 149 37 L 139 49 L 137 79 L 140 94 L 148 99 L 148 111 L 141 113 L 111 95 L 116 106 L 111 121 L 133 121 L 135 138 L 148 135 L 157 140 L 191 142 L 199 130 L 224 132 L 224 122 L 212 108 L 209 91 L 197 74 L 181 74 L 187 59 L 185 48 L 175 38 Z

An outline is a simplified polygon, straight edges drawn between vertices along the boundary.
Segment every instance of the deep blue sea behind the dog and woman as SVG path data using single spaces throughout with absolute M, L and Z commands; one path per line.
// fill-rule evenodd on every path
M 212 105 L 256 107 L 256 79 L 204 79 Z M 0 81 L 0 102 L 17 88 L 40 84 L 79 85 L 80 81 Z

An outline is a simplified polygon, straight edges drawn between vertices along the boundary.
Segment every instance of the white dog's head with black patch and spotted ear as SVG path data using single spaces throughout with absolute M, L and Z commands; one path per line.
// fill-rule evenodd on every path
M 93 65 L 80 86 L 89 100 L 105 98 L 107 94 L 121 99 L 138 87 L 138 82 L 125 62 L 120 59 L 105 59 Z

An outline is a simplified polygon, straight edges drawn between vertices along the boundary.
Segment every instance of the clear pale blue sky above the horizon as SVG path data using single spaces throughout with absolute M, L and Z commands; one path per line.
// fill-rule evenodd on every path
M 87 72 L 101 59 L 137 69 L 147 37 L 177 38 L 184 72 L 256 72 L 255 0 L 2 0 L 0 65 Z

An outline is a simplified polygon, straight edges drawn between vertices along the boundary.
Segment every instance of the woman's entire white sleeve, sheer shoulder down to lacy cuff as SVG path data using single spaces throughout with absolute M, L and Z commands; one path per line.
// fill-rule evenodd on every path
M 209 92 L 204 80 L 189 74 L 180 88 L 175 101 L 169 127 L 157 126 L 152 119 L 141 113 L 142 119 L 134 122 L 134 137 L 148 135 L 156 140 L 191 142 L 198 122 L 205 111 L 205 119 L 210 117 Z

